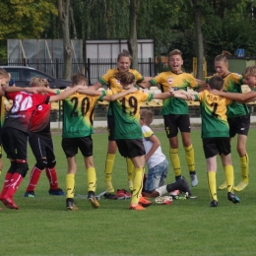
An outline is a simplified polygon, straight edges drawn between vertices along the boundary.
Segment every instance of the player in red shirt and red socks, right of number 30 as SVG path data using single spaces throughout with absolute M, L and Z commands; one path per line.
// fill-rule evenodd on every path
M 31 87 L 49 87 L 48 81 L 39 77 L 33 77 L 30 84 Z M 58 94 L 60 94 L 59 90 L 52 90 L 52 93 L 48 93 L 47 95 L 54 96 Z M 62 189 L 58 186 L 55 169 L 56 159 L 53 152 L 53 142 L 50 133 L 50 110 L 51 104 L 39 104 L 36 106 L 32 115 L 29 142 L 36 163 L 32 167 L 30 182 L 25 197 L 35 197 L 34 189 L 44 168 L 49 181 L 49 195 L 65 195 Z

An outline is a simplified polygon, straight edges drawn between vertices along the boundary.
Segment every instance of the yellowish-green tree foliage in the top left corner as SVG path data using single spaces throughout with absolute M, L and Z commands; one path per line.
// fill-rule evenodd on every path
M 54 2 L 54 0 L 2 0 L 0 39 L 39 38 L 49 22 L 48 15 L 57 15 Z

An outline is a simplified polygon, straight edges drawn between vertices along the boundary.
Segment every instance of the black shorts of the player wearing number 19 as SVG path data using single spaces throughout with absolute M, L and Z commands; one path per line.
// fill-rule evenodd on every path
M 116 140 L 115 142 L 120 155 L 124 158 L 133 159 L 146 154 L 142 139 Z

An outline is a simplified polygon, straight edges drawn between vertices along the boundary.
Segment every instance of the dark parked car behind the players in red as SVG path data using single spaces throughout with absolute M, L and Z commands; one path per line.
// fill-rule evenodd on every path
M 31 67 L 1 66 L 1 68 L 5 69 L 8 73 L 11 74 L 12 79 L 15 81 L 15 85 L 17 87 L 29 87 L 31 78 L 36 76 L 40 78 L 46 78 L 51 89 L 64 89 L 71 85 L 71 81 L 52 78 L 51 76 Z

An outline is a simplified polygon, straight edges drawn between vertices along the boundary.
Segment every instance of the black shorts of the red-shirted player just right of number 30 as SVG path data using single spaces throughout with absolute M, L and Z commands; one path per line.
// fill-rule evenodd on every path
M 36 160 L 55 160 L 51 136 L 41 137 L 36 133 L 31 133 L 29 135 L 29 142 L 32 148 L 32 154 Z

